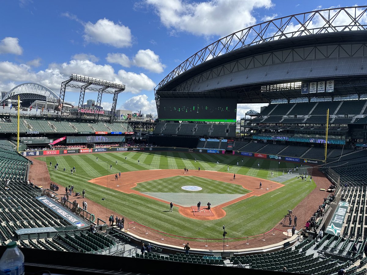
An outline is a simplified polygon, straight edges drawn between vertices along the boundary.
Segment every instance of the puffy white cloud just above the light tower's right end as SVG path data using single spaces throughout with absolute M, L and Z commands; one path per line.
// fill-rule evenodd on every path
M 153 91 L 156 84 L 148 76 L 143 73 L 136 74 L 133 72 L 126 72 L 125 70 L 119 70 L 117 78 L 121 83 L 126 85 L 126 92 L 132 94 L 138 94 L 142 90 Z

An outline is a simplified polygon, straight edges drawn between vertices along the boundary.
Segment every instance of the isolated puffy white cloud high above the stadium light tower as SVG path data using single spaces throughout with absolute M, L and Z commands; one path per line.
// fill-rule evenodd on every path
M 103 43 L 116 48 L 131 46 L 131 31 L 129 27 L 115 24 L 106 18 L 99 19 L 95 24 L 84 24 L 84 40 L 88 43 Z

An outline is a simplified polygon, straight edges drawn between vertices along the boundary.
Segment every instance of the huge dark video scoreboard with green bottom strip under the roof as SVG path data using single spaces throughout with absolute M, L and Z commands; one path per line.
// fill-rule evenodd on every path
M 236 122 L 237 99 L 159 100 L 160 120 Z

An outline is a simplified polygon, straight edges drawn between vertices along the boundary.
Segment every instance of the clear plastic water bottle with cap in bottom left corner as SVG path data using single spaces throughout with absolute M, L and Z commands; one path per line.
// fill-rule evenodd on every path
M 0 275 L 23 275 L 24 255 L 16 242 L 10 242 L 0 259 Z

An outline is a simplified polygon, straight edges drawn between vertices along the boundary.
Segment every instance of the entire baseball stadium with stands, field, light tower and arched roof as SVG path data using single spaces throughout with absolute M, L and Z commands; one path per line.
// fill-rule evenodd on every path
M 59 95 L 14 87 L 0 102 L 0 248 L 16 241 L 28 270 L 58 274 L 366 274 L 366 11 L 207 45 L 157 85 L 155 122 L 116 119 L 125 85 L 78 72 Z M 263 107 L 237 121 L 243 103 Z

